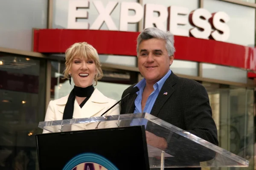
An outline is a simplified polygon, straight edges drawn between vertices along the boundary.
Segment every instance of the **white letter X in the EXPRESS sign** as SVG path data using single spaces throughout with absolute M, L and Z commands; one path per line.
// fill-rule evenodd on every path
M 110 1 L 108 2 L 106 8 L 104 8 L 101 1 L 93 1 L 93 4 L 99 12 L 99 16 L 96 18 L 90 29 L 99 30 L 102 24 L 105 22 L 109 30 L 117 31 L 116 25 L 110 15 L 112 11 L 116 8 L 118 2 Z

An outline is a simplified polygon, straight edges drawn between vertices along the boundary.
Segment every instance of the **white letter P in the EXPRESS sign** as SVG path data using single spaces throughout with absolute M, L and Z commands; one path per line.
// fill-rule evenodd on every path
M 129 15 L 129 10 L 134 10 L 135 15 Z M 137 23 L 143 17 L 143 8 L 139 3 L 122 2 L 120 9 L 120 31 L 128 31 L 129 23 Z

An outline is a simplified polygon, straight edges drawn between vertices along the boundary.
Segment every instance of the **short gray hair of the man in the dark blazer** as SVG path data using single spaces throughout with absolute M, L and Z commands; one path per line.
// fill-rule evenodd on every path
M 163 39 L 166 41 L 166 50 L 169 56 L 175 53 L 174 35 L 170 31 L 162 31 L 159 28 L 145 28 L 137 38 L 137 54 L 139 54 L 139 45 L 143 40 L 151 38 Z

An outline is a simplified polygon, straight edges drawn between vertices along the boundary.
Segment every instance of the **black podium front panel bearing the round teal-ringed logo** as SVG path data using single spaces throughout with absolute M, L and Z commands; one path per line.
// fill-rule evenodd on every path
M 38 134 L 36 140 L 40 170 L 149 170 L 143 126 Z

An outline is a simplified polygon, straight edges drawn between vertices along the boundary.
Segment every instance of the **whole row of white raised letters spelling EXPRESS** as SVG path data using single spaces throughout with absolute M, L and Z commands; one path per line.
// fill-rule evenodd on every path
M 138 23 L 144 19 L 143 28 L 157 27 L 162 30 L 170 30 L 175 35 L 192 36 L 202 39 L 214 39 L 226 41 L 230 36 L 230 28 L 227 22 L 230 17 L 222 11 L 211 14 L 204 8 L 189 12 L 188 8 L 180 6 L 163 6 L 157 4 L 145 4 L 144 8 L 140 3 L 108 1 L 104 6 L 101 1 L 92 1 L 99 12 L 98 17 L 90 26 L 86 22 L 77 22 L 78 18 L 89 19 L 88 11 L 78 10 L 79 8 L 90 8 L 90 0 L 70 0 L 68 11 L 68 29 L 91 29 L 99 30 L 103 23 L 112 31 L 128 31 L 129 23 Z M 111 18 L 111 13 L 120 3 L 119 28 Z M 129 15 L 129 11 L 135 11 Z M 158 16 L 154 16 L 157 13 Z M 167 22 L 167 28 L 165 26 Z M 187 30 L 183 26 L 191 24 L 192 29 Z

